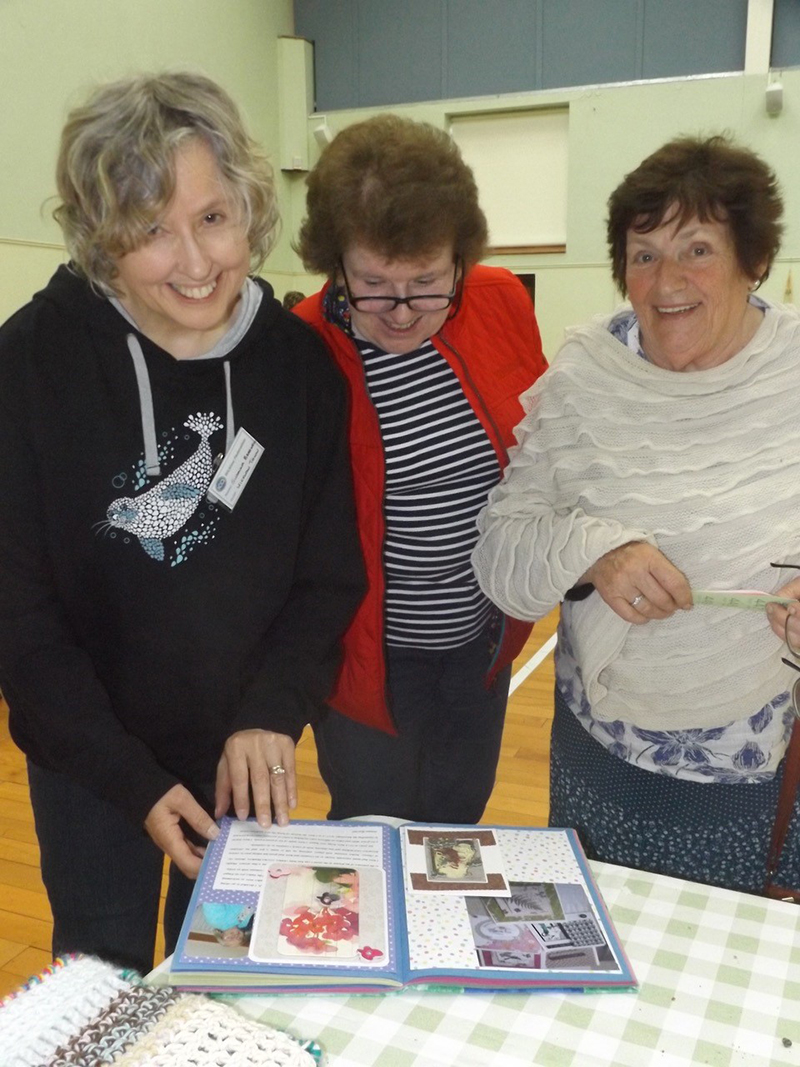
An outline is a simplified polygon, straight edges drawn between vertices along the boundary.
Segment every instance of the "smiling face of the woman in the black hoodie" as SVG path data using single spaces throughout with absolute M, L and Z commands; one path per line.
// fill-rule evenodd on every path
M 228 328 L 250 270 L 238 207 L 202 140 L 175 155 L 175 193 L 147 240 L 117 260 L 115 284 L 140 330 L 176 359 L 207 352 Z

